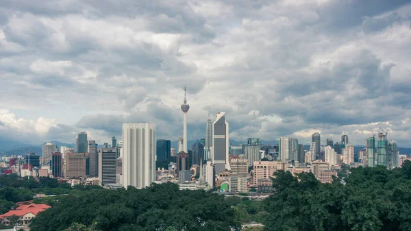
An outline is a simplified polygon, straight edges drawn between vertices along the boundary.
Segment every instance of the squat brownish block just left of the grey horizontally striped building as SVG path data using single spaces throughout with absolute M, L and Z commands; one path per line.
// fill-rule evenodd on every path
M 86 154 L 66 154 L 66 178 L 86 178 Z

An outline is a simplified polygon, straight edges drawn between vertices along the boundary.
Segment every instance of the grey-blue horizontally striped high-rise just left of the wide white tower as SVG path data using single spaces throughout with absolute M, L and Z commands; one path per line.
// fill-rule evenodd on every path
M 116 184 L 117 149 L 99 149 L 99 181 L 101 185 Z

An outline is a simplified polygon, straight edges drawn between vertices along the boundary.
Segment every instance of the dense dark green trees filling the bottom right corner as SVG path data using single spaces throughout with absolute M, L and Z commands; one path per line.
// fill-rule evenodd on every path
M 265 230 L 411 230 L 411 162 L 402 169 L 349 169 L 321 184 L 312 173 L 278 171 L 264 201 Z

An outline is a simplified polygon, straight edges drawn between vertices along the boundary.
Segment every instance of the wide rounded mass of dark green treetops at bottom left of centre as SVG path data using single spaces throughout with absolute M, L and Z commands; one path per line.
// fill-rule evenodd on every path
M 181 191 L 176 184 L 81 192 L 61 197 L 52 208 L 41 212 L 32 220 L 31 230 L 64 230 L 73 222 L 93 224 L 101 231 L 240 229 L 234 208 L 216 193 Z

